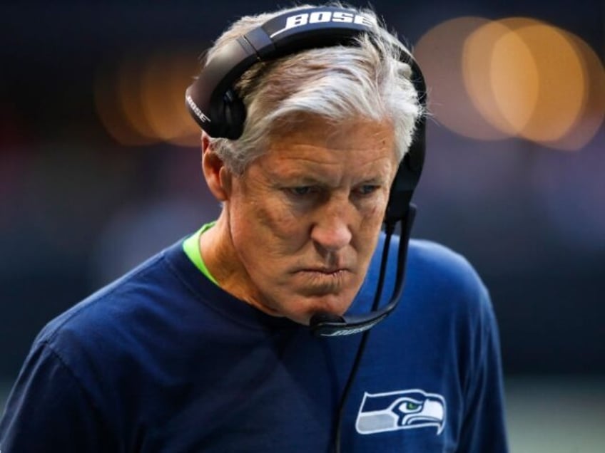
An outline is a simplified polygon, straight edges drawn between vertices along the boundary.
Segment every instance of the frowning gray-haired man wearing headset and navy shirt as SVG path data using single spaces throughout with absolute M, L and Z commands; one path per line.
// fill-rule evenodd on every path
M 411 241 L 397 309 L 372 317 L 402 271 L 380 228 L 424 115 L 410 65 L 370 11 L 233 24 L 186 96 L 220 217 L 44 328 L 1 452 L 506 451 L 472 267 Z

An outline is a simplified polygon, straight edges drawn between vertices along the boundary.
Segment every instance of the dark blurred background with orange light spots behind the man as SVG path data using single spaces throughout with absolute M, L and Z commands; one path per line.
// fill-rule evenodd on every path
M 2 2 L 0 411 L 46 321 L 215 219 L 183 91 L 289 4 Z M 413 233 L 492 293 L 512 451 L 605 451 L 604 2 L 373 5 L 430 87 Z

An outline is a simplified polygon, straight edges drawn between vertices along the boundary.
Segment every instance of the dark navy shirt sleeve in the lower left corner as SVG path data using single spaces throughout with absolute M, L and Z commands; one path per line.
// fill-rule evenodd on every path
M 1 453 L 116 452 L 91 398 L 59 355 L 34 345 L 0 420 Z

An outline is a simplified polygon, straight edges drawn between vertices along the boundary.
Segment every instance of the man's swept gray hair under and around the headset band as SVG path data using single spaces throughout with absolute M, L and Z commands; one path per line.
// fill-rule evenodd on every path
M 210 48 L 207 60 L 225 46 L 279 14 L 244 16 Z M 330 6 L 340 6 L 340 2 Z M 422 115 L 418 93 L 410 81 L 412 70 L 400 61 L 407 48 L 380 24 L 369 9 L 355 11 L 374 24 L 357 38 L 357 46 L 315 48 L 273 61 L 255 63 L 235 84 L 248 115 L 238 140 L 211 138 L 210 144 L 235 174 L 267 148 L 276 127 L 288 126 L 300 115 L 315 115 L 329 123 L 348 119 L 388 121 L 395 131 L 395 153 L 401 160 L 410 147 L 417 118 Z M 291 127 L 291 124 L 290 124 Z

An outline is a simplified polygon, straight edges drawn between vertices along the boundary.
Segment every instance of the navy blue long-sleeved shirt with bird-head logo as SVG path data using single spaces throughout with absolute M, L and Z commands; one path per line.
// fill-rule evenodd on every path
M 351 313 L 370 311 L 379 255 Z M 507 452 L 486 289 L 461 256 L 427 241 L 411 241 L 407 269 L 400 305 L 370 331 L 342 451 Z M 327 453 L 360 338 L 315 338 L 258 311 L 203 276 L 179 242 L 41 331 L 0 450 Z

